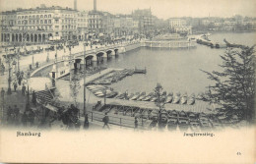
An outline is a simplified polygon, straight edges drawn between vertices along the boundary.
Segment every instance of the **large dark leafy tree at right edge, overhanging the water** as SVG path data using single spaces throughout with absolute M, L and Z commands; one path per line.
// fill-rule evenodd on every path
M 208 79 L 215 82 L 209 86 L 208 101 L 220 105 L 219 112 L 224 112 L 226 119 L 234 115 L 250 123 L 254 121 L 255 96 L 255 46 L 227 48 L 221 55 L 223 72 L 205 72 Z

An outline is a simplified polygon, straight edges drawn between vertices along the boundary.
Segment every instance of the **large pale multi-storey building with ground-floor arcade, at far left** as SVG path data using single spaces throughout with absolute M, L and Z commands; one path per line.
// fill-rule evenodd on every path
M 40 7 L 1 13 L 1 42 L 42 43 L 77 37 L 77 13 L 70 8 Z

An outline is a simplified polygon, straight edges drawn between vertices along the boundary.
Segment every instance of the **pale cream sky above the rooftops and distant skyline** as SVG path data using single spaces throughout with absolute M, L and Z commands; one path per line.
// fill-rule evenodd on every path
M 77 0 L 78 10 L 93 10 L 94 0 Z M 2 11 L 46 6 L 74 7 L 74 0 L 0 0 Z M 256 0 L 97 0 L 97 10 L 112 14 L 131 14 L 151 8 L 160 19 L 174 17 L 256 17 Z

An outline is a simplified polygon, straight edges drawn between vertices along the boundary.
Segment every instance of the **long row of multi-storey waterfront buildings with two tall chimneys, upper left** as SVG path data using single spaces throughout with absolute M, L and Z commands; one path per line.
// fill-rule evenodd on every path
M 151 9 L 136 10 L 131 15 L 112 15 L 108 12 L 78 11 L 59 6 L 17 9 L 2 12 L 1 42 L 41 43 L 52 39 L 105 40 L 148 34 L 153 30 Z

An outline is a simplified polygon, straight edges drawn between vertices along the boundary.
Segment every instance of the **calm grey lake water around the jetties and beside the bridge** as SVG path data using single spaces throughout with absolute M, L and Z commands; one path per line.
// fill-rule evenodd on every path
M 224 38 L 233 43 L 246 45 L 256 44 L 256 33 L 215 33 L 210 36 L 214 41 L 222 42 Z M 222 64 L 220 55 L 225 49 L 212 49 L 205 45 L 197 44 L 195 49 L 168 50 L 160 48 L 138 48 L 133 51 L 119 54 L 118 58 L 105 61 L 103 66 L 109 68 L 138 69 L 147 68 L 146 75 L 133 75 L 121 82 L 111 84 L 119 92 L 152 92 L 158 82 L 167 92 L 204 92 L 211 84 L 205 71 L 220 71 Z M 69 82 L 59 80 L 56 82 L 62 100 L 72 101 L 72 92 Z M 89 102 L 96 102 L 95 96 L 87 92 Z M 83 102 L 83 87 L 78 92 L 77 100 Z

